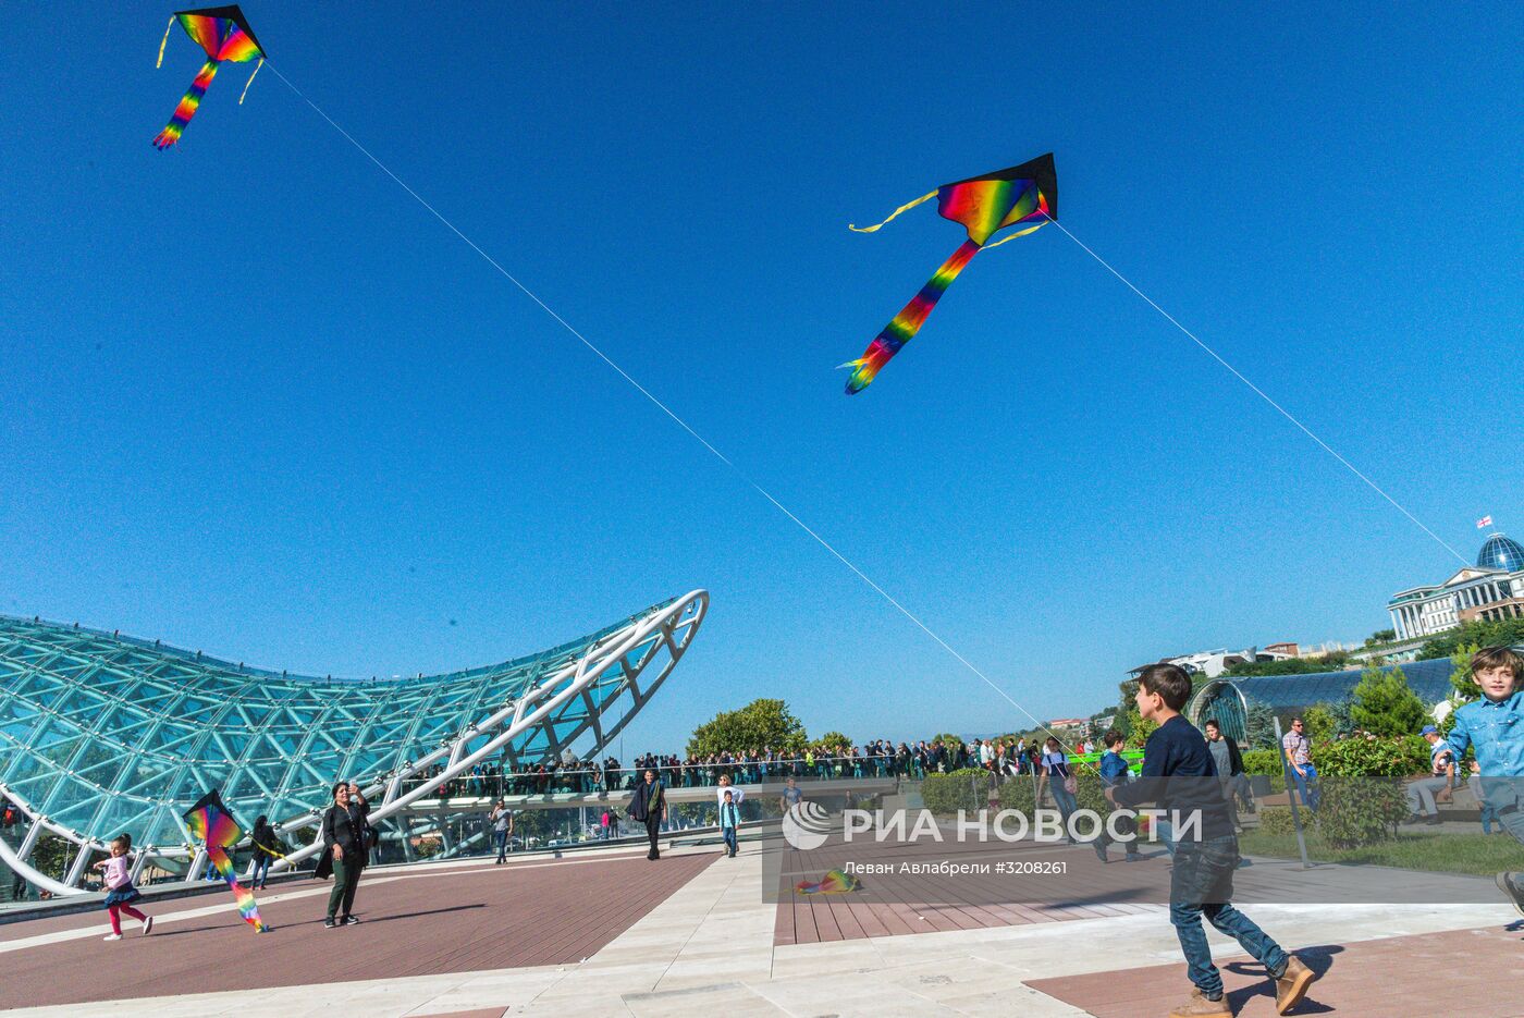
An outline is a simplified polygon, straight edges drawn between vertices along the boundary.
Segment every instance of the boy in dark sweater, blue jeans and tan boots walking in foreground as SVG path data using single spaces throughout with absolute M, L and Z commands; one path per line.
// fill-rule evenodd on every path
M 1161 809 L 1190 817 L 1177 832 L 1175 866 L 1169 881 L 1169 920 L 1180 937 L 1187 974 L 1195 984 L 1190 1000 L 1170 1018 L 1231 1018 L 1222 992 L 1222 974 L 1212 963 L 1212 948 L 1201 917 L 1256 957 L 1276 980 L 1276 1012 L 1286 1013 L 1308 992 L 1315 974 L 1295 956 L 1233 907 L 1233 870 L 1239 864 L 1237 835 L 1216 782 L 1207 741 L 1180 709 L 1190 696 L 1190 675 L 1178 664 L 1149 664 L 1138 675 L 1134 696 L 1138 715 L 1158 722 L 1143 747 L 1143 776 L 1106 789 L 1116 806 L 1155 802 Z M 1199 820 L 1199 823 L 1193 823 Z

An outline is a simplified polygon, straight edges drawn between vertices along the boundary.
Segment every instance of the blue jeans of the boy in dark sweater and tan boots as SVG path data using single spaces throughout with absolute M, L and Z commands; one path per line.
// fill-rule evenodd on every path
M 1201 916 L 1225 933 L 1279 975 L 1286 968 L 1286 952 L 1263 930 L 1230 904 L 1233 870 L 1237 869 L 1237 838 L 1224 835 L 1205 841 L 1181 841 L 1175 849 L 1175 869 L 1169 881 L 1169 920 L 1186 954 L 1190 981 L 1212 997 L 1222 992 L 1222 974 L 1212 963 L 1207 931 Z

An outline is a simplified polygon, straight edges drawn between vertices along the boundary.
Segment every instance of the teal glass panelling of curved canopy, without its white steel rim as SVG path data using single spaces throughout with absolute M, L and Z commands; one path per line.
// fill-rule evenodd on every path
M 671 603 L 503 664 L 367 681 L 287 675 L 0 616 L 0 791 L 85 837 L 126 831 L 160 847 L 189 840 L 180 812 L 213 788 L 245 823 L 294 818 L 326 802 L 340 777 L 366 783 L 418 760 Z M 523 733 L 509 747 L 515 765 L 575 739 L 623 680 L 611 667 L 585 699 Z

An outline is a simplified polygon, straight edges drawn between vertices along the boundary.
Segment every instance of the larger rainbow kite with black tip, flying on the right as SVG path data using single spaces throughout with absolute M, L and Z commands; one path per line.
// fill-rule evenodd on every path
M 863 357 L 841 364 L 841 367 L 852 369 L 852 378 L 847 379 L 849 396 L 867 389 L 873 376 L 888 363 L 888 358 L 916 338 L 927 315 L 937 306 L 937 299 L 952 285 L 963 267 L 986 247 L 991 236 L 1010 226 L 1021 227 L 1015 233 L 988 244 L 988 247 L 1000 247 L 1006 241 L 1038 230 L 1049 221 L 1058 221 L 1058 175 L 1053 171 L 1053 152 L 1021 166 L 969 177 L 956 184 L 942 184 L 931 194 L 899 206 L 884 222 L 931 198 L 937 200 L 937 212 L 942 213 L 942 218 L 962 222 L 968 229 L 968 239 L 952 251 L 952 258 L 942 264 L 936 276 L 895 315 L 895 320 L 885 325 L 884 331 L 869 343 Z M 873 233 L 884 222 L 869 227 L 849 224 L 847 229 L 858 233 Z

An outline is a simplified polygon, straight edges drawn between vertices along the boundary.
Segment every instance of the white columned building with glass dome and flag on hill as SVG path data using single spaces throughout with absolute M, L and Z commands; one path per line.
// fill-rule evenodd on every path
M 1466 565 L 1443 584 L 1393 594 L 1387 613 L 1398 640 L 1422 640 L 1477 619 L 1524 617 L 1524 546 L 1492 533 L 1475 565 Z

